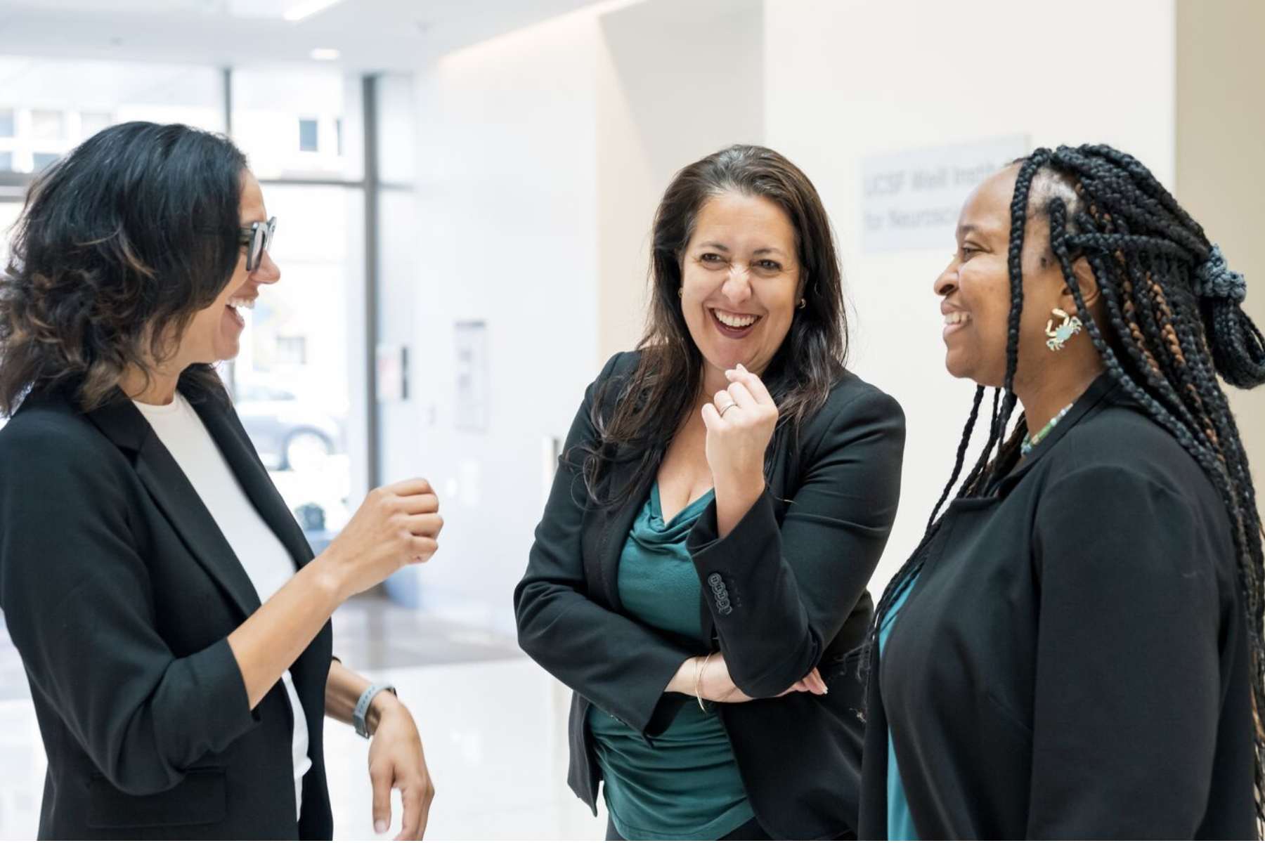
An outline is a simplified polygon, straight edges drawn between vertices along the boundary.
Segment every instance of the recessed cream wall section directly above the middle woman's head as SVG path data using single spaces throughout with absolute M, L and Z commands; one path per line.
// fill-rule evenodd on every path
M 645 0 L 601 15 L 598 351 L 636 345 L 654 210 L 672 176 L 764 139 L 764 0 Z

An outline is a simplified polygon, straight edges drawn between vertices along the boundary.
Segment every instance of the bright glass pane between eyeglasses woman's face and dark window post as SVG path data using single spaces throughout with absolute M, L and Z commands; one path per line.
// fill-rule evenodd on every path
M 359 190 L 263 185 L 277 217 L 281 281 L 245 311 L 233 367 L 238 415 L 290 509 L 319 551 L 352 514 L 348 343 L 364 281 Z M 320 527 L 311 527 L 320 525 Z

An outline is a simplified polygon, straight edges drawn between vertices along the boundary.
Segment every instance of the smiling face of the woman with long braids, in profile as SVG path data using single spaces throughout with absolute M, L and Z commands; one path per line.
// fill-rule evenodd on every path
M 990 176 L 966 198 L 958 217 L 958 250 L 935 282 L 945 317 L 945 367 L 956 378 L 985 387 L 1006 380 L 1006 340 L 1011 311 L 1007 264 L 1011 198 L 1018 167 Z M 1046 322 L 1055 307 L 1069 308 L 1063 272 L 1049 249 L 1049 221 L 1028 214 L 1023 235 L 1023 310 L 1016 382 L 1040 378 L 1056 355 L 1046 346 Z M 1074 305 L 1070 306 L 1074 312 Z

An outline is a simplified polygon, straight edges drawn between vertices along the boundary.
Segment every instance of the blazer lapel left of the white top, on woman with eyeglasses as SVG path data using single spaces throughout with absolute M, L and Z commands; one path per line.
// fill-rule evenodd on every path
M 114 401 L 87 413 L 87 417 L 110 441 L 134 455 L 137 475 L 185 540 L 190 554 L 219 583 L 243 618 L 253 614 L 259 608 L 259 595 L 250 578 L 206 504 L 140 411 L 120 392 Z

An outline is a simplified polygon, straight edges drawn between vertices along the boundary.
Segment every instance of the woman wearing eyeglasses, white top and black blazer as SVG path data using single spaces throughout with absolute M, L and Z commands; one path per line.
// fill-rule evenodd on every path
M 330 614 L 436 550 L 425 480 L 312 557 L 213 364 L 281 272 L 226 139 L 106 129 L 34 183 L 0 279 L 0 608 L 48 756 L 40 838 L 333 834 L 325 715 L 371 737 L 376 830 L 434 796 L 393 689 Z

